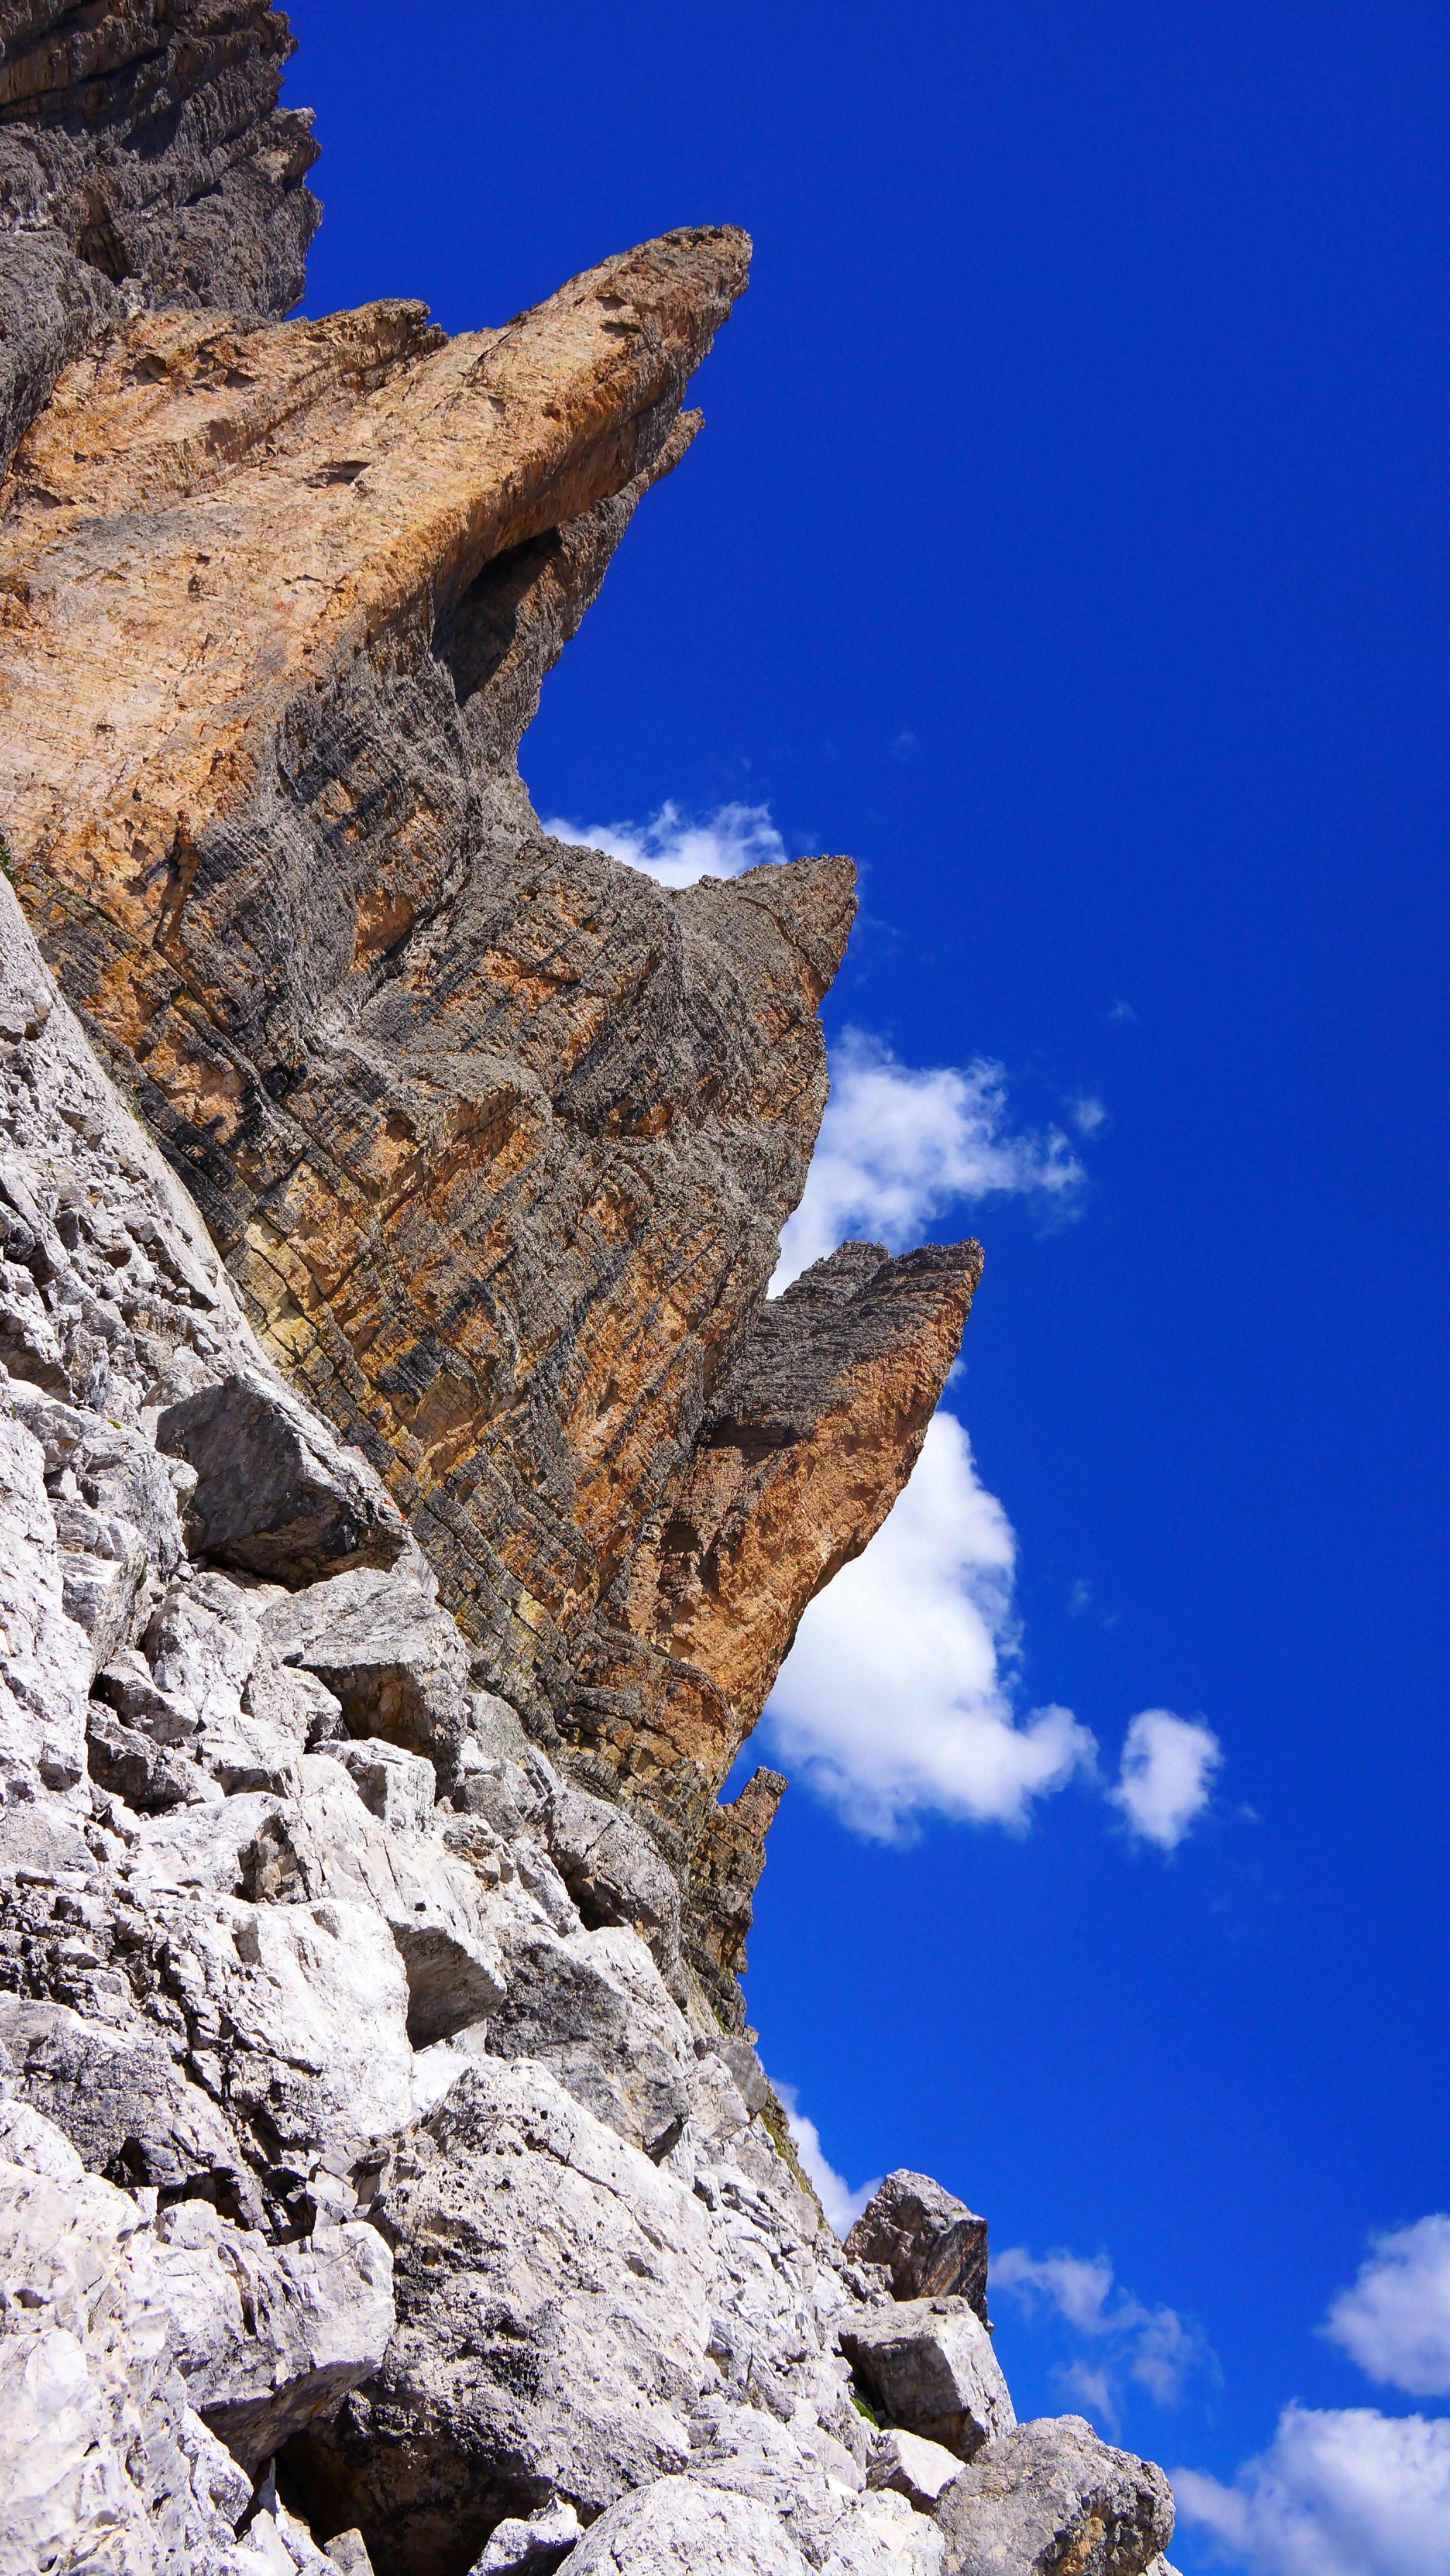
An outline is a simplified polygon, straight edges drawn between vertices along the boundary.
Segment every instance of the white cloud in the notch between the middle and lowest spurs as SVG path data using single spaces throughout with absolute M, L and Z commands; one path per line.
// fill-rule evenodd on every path
M 878 1038 L 847 1028 L 832 1048 L 832 1097 L 770 1285 L 780 1293 L 850 1236 L 904 1252 L 953 1200 L 1012 1193 L 1064 1208 L 1082 1180 L 1061 1128 L 1007 1126 L 999 1064 L 976 1056 L 966 1069 L 914 1072 Z

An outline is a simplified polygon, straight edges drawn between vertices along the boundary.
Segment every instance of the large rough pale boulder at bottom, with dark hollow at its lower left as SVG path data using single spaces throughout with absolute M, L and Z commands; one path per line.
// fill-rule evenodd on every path
M 397 2334 L 291 2452 L 322 2530 L 355 2522 L 376 2566 L 451 2576 L 505 2514 L 564 2491 L 592 2517 L 688 2465 L 706 2210 L 543 2066 L 469 2058 L 379 2215 Z

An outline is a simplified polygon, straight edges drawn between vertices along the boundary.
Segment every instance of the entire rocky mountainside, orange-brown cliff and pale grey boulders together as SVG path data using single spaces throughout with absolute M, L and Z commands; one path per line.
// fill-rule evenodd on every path
M 518 775 L 749 245 L 286 322 L 288 52 L 0 5 L 0 2568 L 1144 2576 L 744 2032 L 719 1790 L 981 1270 L 765 1293 L 850 863 Z

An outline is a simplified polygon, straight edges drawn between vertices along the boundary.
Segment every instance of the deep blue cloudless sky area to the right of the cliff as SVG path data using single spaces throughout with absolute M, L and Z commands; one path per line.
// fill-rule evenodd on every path
M 1221 2388 L 1123 2434 L 1226 2476 L 1290 2396 L 1375 2403 L 1311 2329 L 1450 2200 L 1450 18 L 291 15 L 312 312 L 502 322 L 755 234 L 525 742 L 541 811 L 767 799 L 865 868 L 829 1028 L 1110 1110 L 1077 1224 L 974 1218 L 953 1399 L 1030 1698 L 1113 1754 L 1208 1718 L 1213 1819 L 1164 1860 L 1069 1793 L 891 1852 L 791 1795 L 749 2004 L 850 2179 L 925 2166 L 1195 2316 Z M 1046 2336 L 999 2352 L 1066 2403 Z

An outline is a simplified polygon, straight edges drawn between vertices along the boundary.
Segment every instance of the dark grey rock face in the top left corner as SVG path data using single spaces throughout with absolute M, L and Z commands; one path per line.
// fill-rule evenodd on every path
M 62 366 L 139 304 L 283 314 L 322 209 L 263 0 L 0 10 L 0 471 Z

